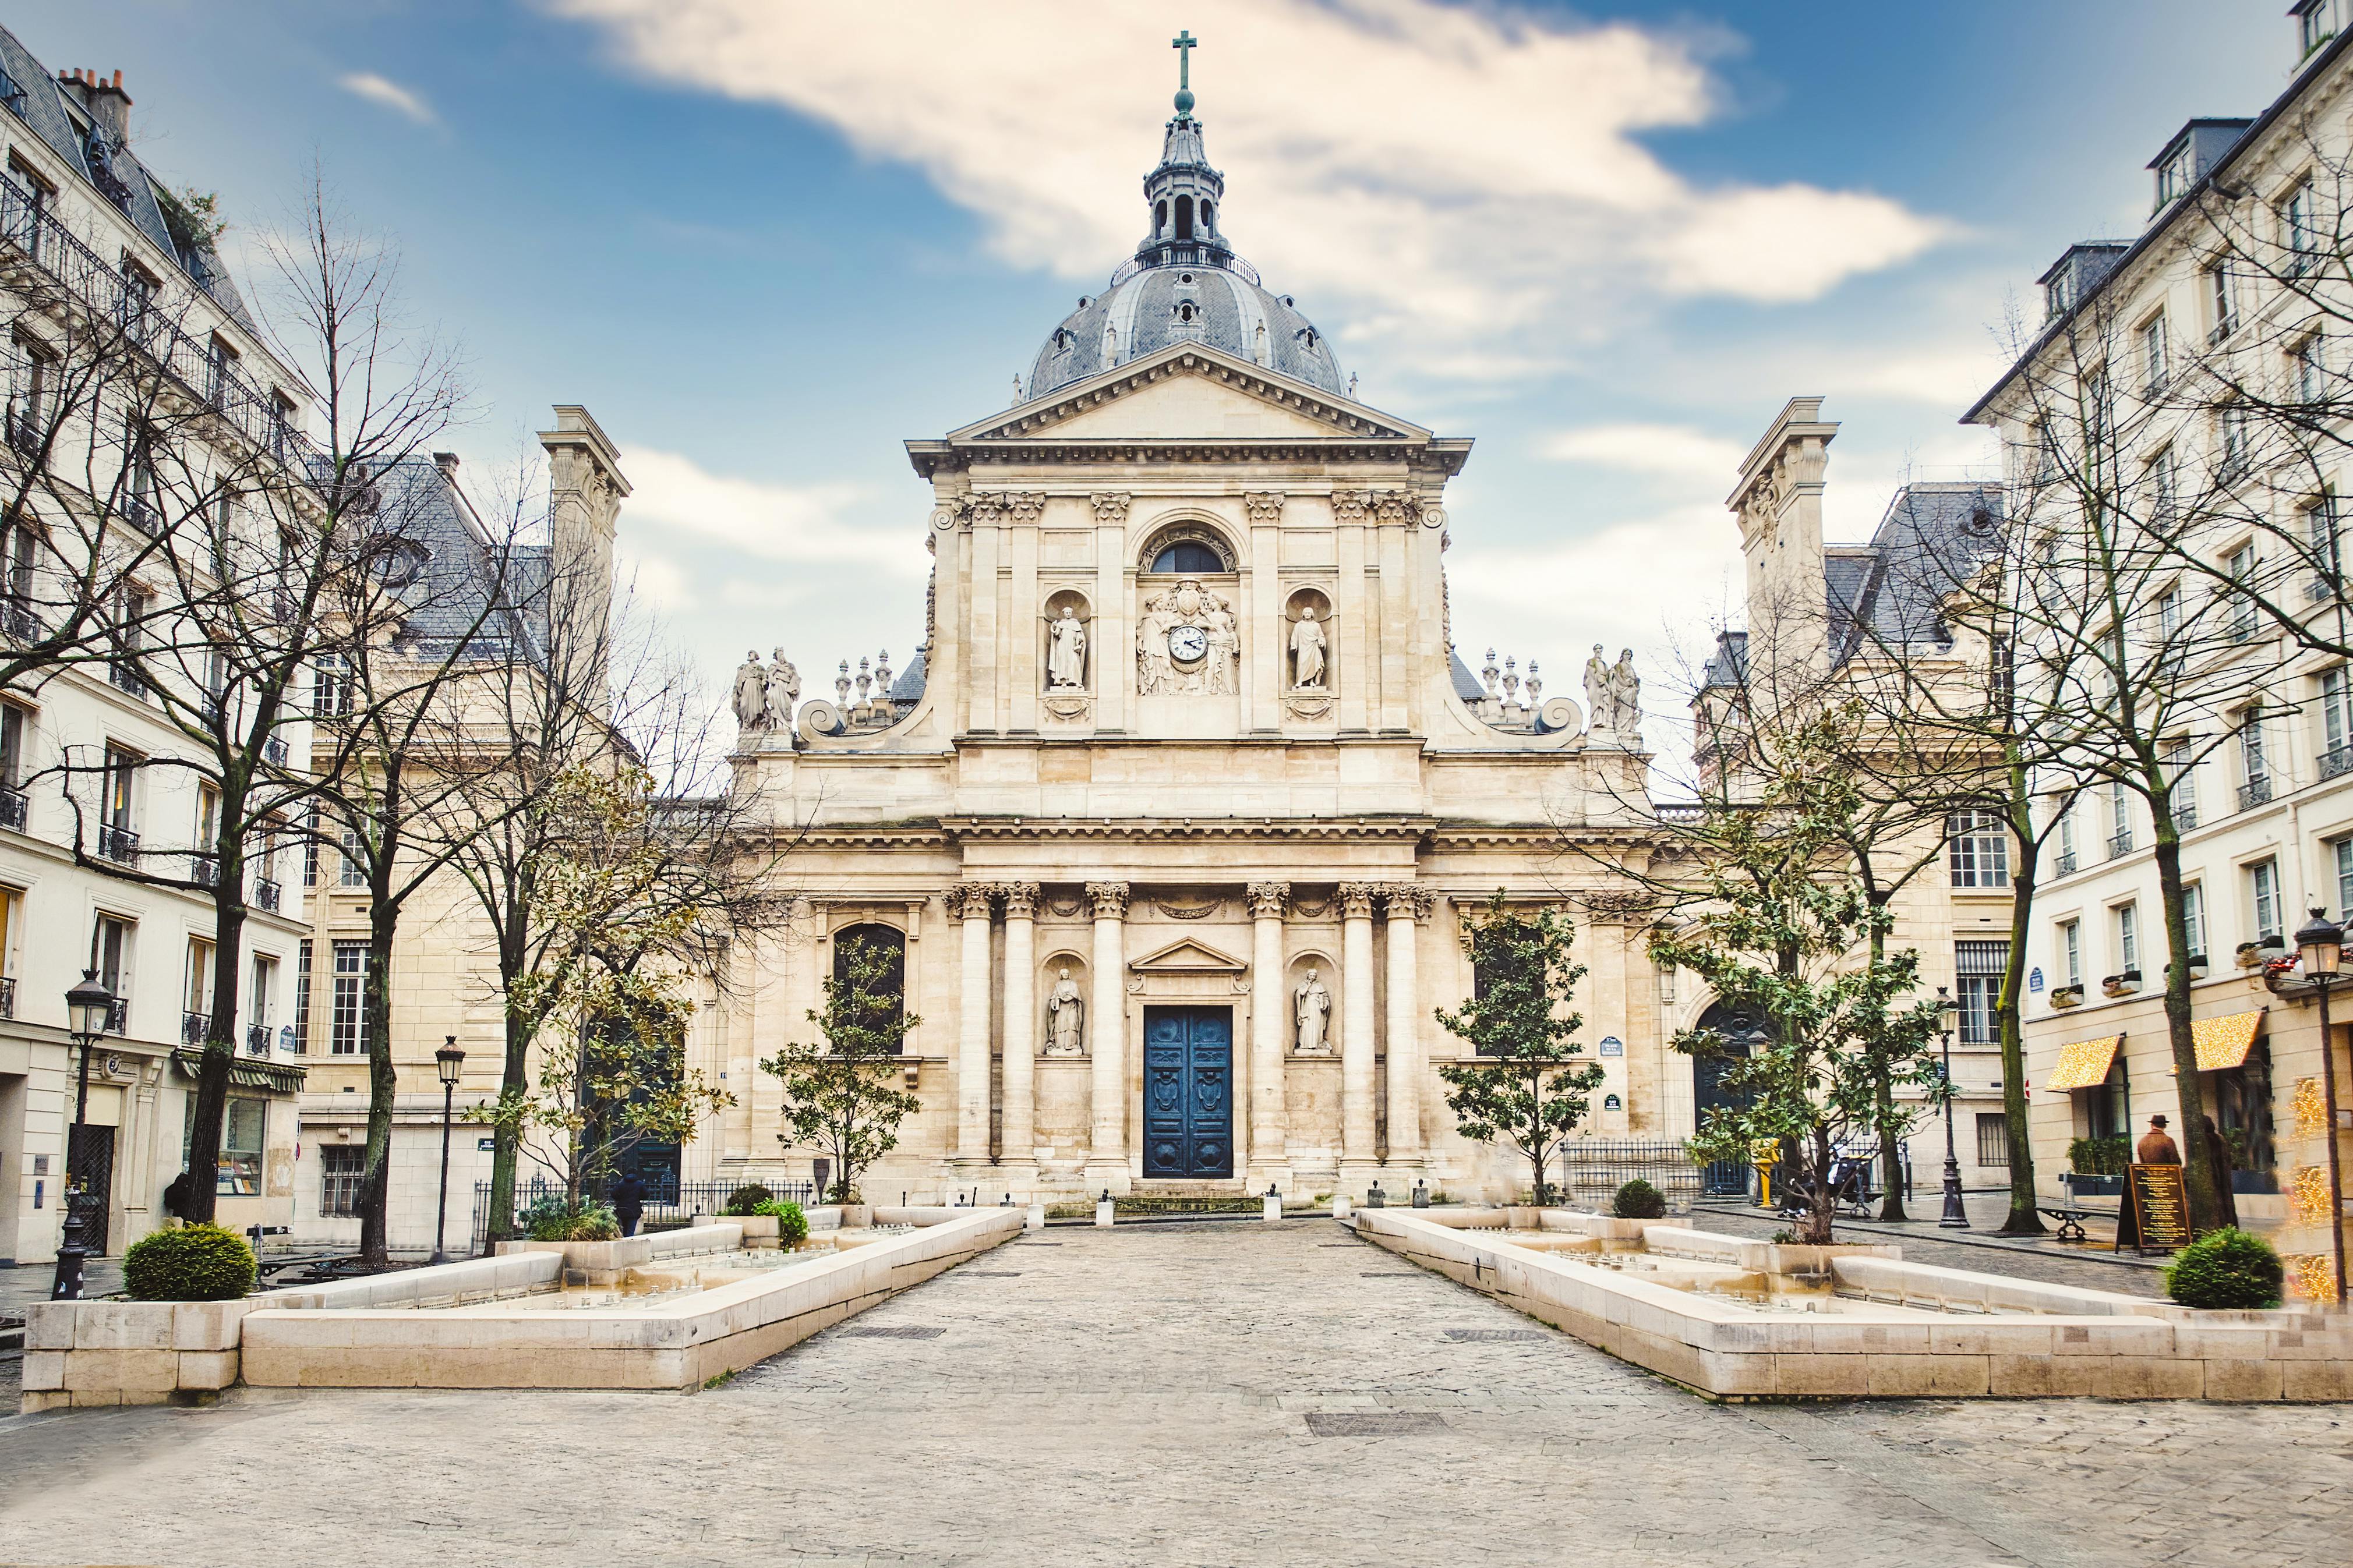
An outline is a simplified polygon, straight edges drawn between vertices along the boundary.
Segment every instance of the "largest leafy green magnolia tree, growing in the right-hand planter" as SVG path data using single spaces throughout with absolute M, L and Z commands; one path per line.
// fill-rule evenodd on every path
M 1760 1143 L 1793 1150 L 1807 1192 L 1805 1241 L 1828 1241 L 1833 1147 L 1878 1133 L 1882 1086 L 1948 1095 L 1937 1060 L 1939 1009 L 1918 992 L 1920 957 L 1887 952 L 1892 914 L 1854 875 L 1864 802 L 1852 778 L 1788 748 L 1755 799 L 1720 811 L 1699 867 L 1706 898 L 1680 931 L 1652 936 L 1661 966 L 1689 969 L 1734 1013 L 1765 1020 L 1767 1041 L 1739 1056 L 1718 1030 L 1685 1030 L 1675 1048 L 1725 1058 L 1732 1105 L 1692 1138 L 1701 1159 L 1746 1161 Z

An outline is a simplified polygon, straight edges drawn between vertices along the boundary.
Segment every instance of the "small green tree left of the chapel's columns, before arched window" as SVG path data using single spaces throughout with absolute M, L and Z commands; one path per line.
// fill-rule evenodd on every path
M 849 938 L 826 980 L 826 1006 L 809 1011 L 824 1044 L 786 1046 L 760 1063 L 784 1086 L 786 1147 L 833 1157 L 833 1201 L 854 1201 L 856 1178 L 899 1147 L 899 1124 L 922 1110 L 922 1095 L 899 1086 L 899 1046 L 920 1018 L 906 1011 L 892 950 Z

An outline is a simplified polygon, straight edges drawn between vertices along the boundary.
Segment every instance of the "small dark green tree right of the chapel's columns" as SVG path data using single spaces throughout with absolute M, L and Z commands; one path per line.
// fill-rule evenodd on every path
M 1537 1201 L 1548 1201 L 1546 1161 L 1586 1119 L 1600 1063 L 1579 1063 L 1572 1039 L 1586 1020 L 1569 1011 L 1584 964 L 1572 959 L 1577 933 L 1558 910 L 1515 914 L 1497 889 L 1487 910 L 1464 933 L 1478 994 L 1459 1013 L 1438 1009 L 1438 1023 L 1466 1041 L 1478 1060 L 1438 1070 L 1447 1107 L 1464 1138 L 1511 1140 L 1534 1171 Z

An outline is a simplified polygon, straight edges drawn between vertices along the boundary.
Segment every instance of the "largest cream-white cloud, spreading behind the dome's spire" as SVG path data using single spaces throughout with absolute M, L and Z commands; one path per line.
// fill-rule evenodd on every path
M 1111 0 L 541 0 L 633 68 L 779 103 L 920 167 L 1016 266 L 1101 277 L 1136 240 L 1172 61 Z M 1438 0 L 1195 0 L 1231 235 L 1360 350 L 1525 376 L 1633 303 L 1817 299 L 1948 228 L 1817 186 L 1699 186 L 1640 134 L 1720 113 L 1704 40 Z

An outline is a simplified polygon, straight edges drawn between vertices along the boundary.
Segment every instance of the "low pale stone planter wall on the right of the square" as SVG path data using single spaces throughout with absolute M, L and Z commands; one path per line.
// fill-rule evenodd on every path
M 2353 1319 L 2341 1312 L 2191 1312 L 1847 1253 L 1826 1260 L 1840 1295 L 1946 1309 L 1939 1319 L 1875 1316 L 1868 1305 L 1765 1316 L 1520 1248 L 1508 1232 L 1400 1211 L 1360 1211 L 1355 1225 L 1379 1246 L 1711 1399 L 2353 1399 Z

